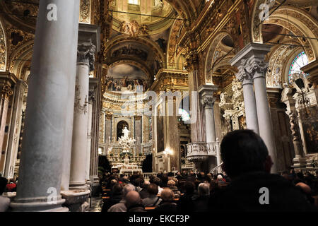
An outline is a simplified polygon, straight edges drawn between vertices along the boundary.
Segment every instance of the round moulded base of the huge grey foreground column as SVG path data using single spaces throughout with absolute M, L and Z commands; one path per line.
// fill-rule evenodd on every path
M 16 198 L 10 206 L 13 212 L 69 212 L 69 208 L 62 206 L 63 203 L 65 199 L 61 196 L 55 203 L 49 203 L 48 197 Z

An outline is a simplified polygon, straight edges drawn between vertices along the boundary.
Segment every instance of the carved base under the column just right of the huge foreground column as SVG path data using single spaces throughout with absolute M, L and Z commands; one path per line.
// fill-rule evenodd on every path
M 66 200 L 64 206 L 71 212 L 86 212 L 90 207 L 88 204 L 89 190 L 61 191 L 61 196 Z

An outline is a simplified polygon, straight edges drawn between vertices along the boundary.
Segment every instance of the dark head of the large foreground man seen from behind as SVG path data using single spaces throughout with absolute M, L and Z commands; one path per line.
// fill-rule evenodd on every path
M 232 131 L 220 144 L 222 168 L 229 177 L 248 172 L 271 171 L 271 157 L 264 141 L 252 130 Z

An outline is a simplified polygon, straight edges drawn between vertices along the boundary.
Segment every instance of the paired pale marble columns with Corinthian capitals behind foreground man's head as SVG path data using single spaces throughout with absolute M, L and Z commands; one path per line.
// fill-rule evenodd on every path
M 270 45 L 249 43 L 246 47 L 240 50 L 240 52 L 238 52 L 233 59 L 230 60 L 230 64 L 235 65 L 239 68 L 240 72 L 237 76 L 238 78 L 253 78 L 257 109 L 257 121 L 259 124 L 259 136 L 261 136 L 261 138 L 264 140 L 264 143 L 269 150 L 269 155 L 271 155 L 271 159 L 273 160 L 273 167 L 271 169 L 271 172 L 276 173 L 276 146 L 273 138 L 273 125 L 271 123 L 271 113 L 269 109 L 269 100 L 267 98 L 265 82 L 268 64 L 264 62 L 265 55 L 270 50 Z M 246 91 L 243 88 L 244 97 L 245 92 Z M 249 87 L 249 91 L 247 92 L 247 94 L 250 93 L 252 95 L 252 88 Z M 251 96 L 249 97 L 252 98 Z M 251 111 L 254 114 L 255 108 L 252 105 L 254 104 L 252 104 L 251 100 L 251 105 L 245 106 L 246 114 L 250 113 Z

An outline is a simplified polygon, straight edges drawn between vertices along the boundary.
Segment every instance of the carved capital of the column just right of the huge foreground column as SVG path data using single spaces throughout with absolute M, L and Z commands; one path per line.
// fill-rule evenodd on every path
M 94 44 L 80 44 L 77 49 L 77 62 L 88 64 L 94 71 L 96 47 Z

